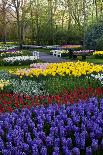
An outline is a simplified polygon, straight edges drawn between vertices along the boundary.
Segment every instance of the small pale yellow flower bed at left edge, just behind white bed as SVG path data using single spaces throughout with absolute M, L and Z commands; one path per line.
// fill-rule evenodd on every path
M 15 50 L 12 50 L 11 52 L 2 52 L 2 53 L 0 53 L 1 58 L 11 57 L 11 56 L 21 56 L 21 55 L 23 55 L 22 51 L 15 51 Z

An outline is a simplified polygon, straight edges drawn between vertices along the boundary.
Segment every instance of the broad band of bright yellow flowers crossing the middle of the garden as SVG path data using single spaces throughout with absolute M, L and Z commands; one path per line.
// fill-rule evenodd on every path
M 103 72 L 103 66 L 94 65 L 87 62 L 65 62 L 49 64 L 45 70 L 42 69 L 18 69 L 17 71 L 10 71 L 11 74 L 17 75 L 20 78 L 24 76 L 38 77 L 38 76 L 75 76 L 87 75 L 93 72 Z

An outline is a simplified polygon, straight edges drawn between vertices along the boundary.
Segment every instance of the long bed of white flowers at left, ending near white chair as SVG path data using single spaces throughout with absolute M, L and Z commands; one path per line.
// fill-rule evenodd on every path
M 2 65 L 23 65 L 30 64 L 37 61 L 36 56 L 15 56 L 7 57 L 1 61 Z

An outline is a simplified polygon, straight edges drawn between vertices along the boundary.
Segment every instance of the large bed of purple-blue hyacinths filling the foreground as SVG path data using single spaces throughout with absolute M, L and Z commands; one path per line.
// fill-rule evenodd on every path
M 1 154 L 103 154 L 103 99 L 0 116 Z

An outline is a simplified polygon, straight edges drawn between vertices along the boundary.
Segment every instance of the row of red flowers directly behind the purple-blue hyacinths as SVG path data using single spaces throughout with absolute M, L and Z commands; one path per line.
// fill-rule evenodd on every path
M 12 112 L 16 108 L 30 108 L 31 106 L 40 106 L 41 104 L 48 105 L 52 103 L 71 104 L 78 103 L 79 100 L 87 100 L 89 97 L 101 97 L 103 88 L 88 89 L 79 88 L 54 96 L 28 96 L 21 94 L 0 93 L 0 113 L 9 111 Z

